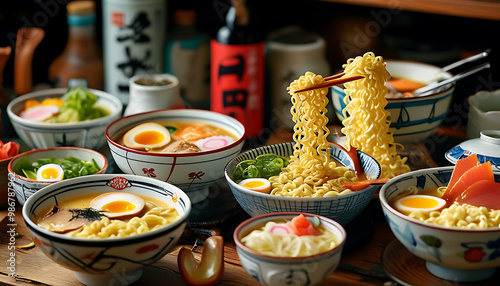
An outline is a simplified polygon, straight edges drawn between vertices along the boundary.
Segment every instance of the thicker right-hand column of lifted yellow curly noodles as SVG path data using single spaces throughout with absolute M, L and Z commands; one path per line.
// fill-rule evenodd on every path
M 345 77 L 364 76 L 363 79 L 345 83 L 342 111 L 344 120 L 342 133 L 346 135 L 346 148 L 353 146 L 375 158 L 381 168 L 381 178 L 393 178 L 410 171 L 408 158 L 401 158 L 396 143 L 389 132 L 390 113 L 385 110 L 387 88 L 384 83 L 390 78 L 383 58 L 373 53 L 347 60 L 343 65 Z

